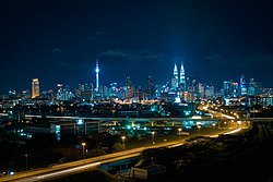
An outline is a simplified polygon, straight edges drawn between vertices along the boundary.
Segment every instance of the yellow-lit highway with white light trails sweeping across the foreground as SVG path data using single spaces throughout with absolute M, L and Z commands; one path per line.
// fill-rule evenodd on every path
M 236 133 L 236 132 L 239 132 L 240 130 L 241 129 L 238 128 L 224 134 Z M 215 137 L 215 135 L 206 135 L 206 136 Z M 118 151 L 114 154 L 107 154 L 104 156 L 93 157 L 88 159 L 83 159 L 83 160 L 78 160 L 78 161 L 72 161 L 72 162 L 67 162 L 67 163 L 61 163 L 61 165 L 55 165 L 51 168 L 43 168 L 43 169 L 36 169 L 32 171 L 20 172 L 14 175 L 1 177 L 0 181 L 35 182 L 35 181 L 40 181 L 40 180 L 50 180 L 50 179 L 63 177 L 67 174 L 81 172 L 86 169 L 96 168 L 103 163 L 108 163 L 111 161 L 118 161 L 118 160 L 135 157 L 135 156 L 139 156 L 143 149 L 156 148 L 156 147 L 177 147 L 177 146 L 183 145 L 186 139 L 187 138 L 175 141 L 175 142 L 166 142 L 166 143 L 162 143 L 157 145 L 152 145 L 149 147 L 140 147 L 140 148 L 134 148 L 130 150 Z

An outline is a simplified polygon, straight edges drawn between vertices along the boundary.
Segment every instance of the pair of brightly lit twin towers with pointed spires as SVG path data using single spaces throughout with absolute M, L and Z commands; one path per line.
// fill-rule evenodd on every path
M 180 75 L 179 75 L 180 74 Z M 181 63 L 180 72 L 178 73 L 177 64 L 175 63 L 174 75 L 171 77 L 173 88 L 186 88 L 185 69 L 183 63 Z

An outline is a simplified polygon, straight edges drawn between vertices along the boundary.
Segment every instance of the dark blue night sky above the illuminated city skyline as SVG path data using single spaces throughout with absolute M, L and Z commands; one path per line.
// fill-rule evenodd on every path
M 145 86 L 186 75 L 222 86 L 240 74 L 273 87 L 273 3 L 252 0 L 1 0 L 0 94 L 57 83 Z

